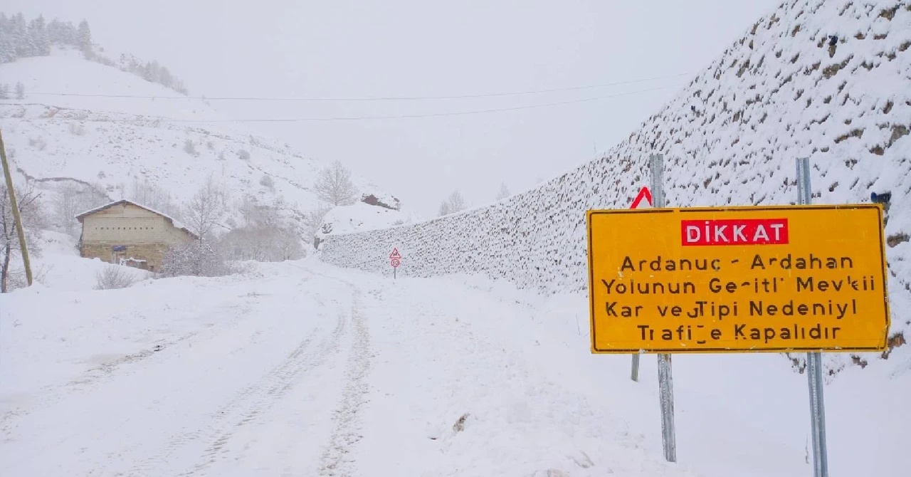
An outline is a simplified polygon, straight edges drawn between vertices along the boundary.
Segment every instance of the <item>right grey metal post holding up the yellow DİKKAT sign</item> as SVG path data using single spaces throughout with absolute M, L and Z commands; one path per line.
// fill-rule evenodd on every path
M 797 203 L 813 202 L 810 192 L 810 160 L 797 160 Z M 810 423 L 813 434 L 813 475 L 828 477 L 829 464 L 825 449 L 825 408 L 823 403 L 823 357 L 819 351 L 806 353 L 806 378 L 810 385 Z

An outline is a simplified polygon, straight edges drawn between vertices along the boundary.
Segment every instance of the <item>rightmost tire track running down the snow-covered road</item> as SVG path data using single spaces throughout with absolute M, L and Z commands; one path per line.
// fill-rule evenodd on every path
M 335 428 L 320 459 L 321 476 L 353 475 L 354 461 L 347 459 L 347 455 L 353 445 L 363 438 L 358 411 L 366 402 L 365 395 L 369 391 L 365 378 L 370 371 L 370 334 L 360 306 L 360 291 L 354 285 L 348 285 L 353 288 L 351 315 L 354 336 L 345 371 L 346 383 L 335 410 Z M 288 474 L 286 469 L 285 475 Z

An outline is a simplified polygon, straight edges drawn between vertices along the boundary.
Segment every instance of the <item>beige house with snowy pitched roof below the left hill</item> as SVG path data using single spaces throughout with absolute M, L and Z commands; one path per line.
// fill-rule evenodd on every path
M 199 238 L 168 215 L 127 200 L 107 203 L 76 218 L 82 223 L 80 256 L 151 272 L 161 269 L 171 246 Z

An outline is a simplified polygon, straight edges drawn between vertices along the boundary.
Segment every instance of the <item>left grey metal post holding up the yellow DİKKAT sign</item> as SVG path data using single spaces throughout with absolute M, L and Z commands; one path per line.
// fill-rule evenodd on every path
M 664 157 L 653 154 L 649 158 L 651 170 L 651 203 L 656 209 L 665 207 L 664 202 Z M 639 358 L 639 355 L 635 355 Z M 674 379 L 670 367 L 670 354 L 658 355 L 658 386 L 661 405 L 661 441 L 664 444 L 664 458 L 677 461 L 677 437 L 674 431 Z

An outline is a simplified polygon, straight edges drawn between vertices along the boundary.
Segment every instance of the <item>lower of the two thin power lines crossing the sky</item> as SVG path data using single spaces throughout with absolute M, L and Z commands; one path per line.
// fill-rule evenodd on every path
M 497 108 L 497 109 L 477 109 L 471 111 L 450 111 L 442 113 L 426 113 L 426 114 L 405 114 L 405 115 L 395 115 L 395 116 L 353 116 L 353 117 L 333 117 L 333 118 L 262 118 L 262 119 L 172 119 L 165 118 L 161 116 L 146 116 L 142 119 L 75 119 L 75 118 L 34 118 L 34 119 L 24 119 L 24 120 L 36 120 L 36 119 L 67 119 L 67 120 L 78 120 L 78 121 L 87 121 L 87 122 L 148 122 L 148 121 L 164 121 L 164 122 L 184 122 L 184 123 L 224 123 L 224 122 L 322 122 L 322 121 L 351 121 L 351 120 L 366 120 L 366 119 L 416 119 L 416 118 L 434 118 L 434 117 L 443 117 L 443 116 L 464 116 L 469 114 L 484 114 L 491 112 L 501 112 L 501 111 L 516 111 L 520 109 L 537 109 L 537 108 L 549 108 L 553 106 L 562 106 L 573 103 L 583 103 L 589 101 L 598 101 L 601 99 L 611 99 L 619 98 L 623 96 L 630 96 L 634 94 L 647 93 L 650 91 L 659 91 L 661 89 L 668 88 L 678 88 L 677 86 L 664 86 L 660 88 L 649 88 L 649 89 L 639 89 L 636 91 L 628 91 L 625 93 L 617 93 L 607 96 L 599 96 L 596 98 L 583 98 L 583 99 L 570 99 L 568 101 L 558 101 L 553 103 L 545 104 L 535 104 L 528 106 L 517 106 L 513 108 Z M 0 117 L 0 119 L 23 119 L 15 117 Z

